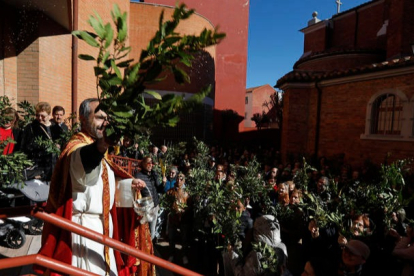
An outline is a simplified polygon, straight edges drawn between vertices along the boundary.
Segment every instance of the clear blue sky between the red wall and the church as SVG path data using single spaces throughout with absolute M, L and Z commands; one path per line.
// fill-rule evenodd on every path
M 312 13 L 321 20 L 337 13 L 337 0 L 250 0 L 246 88 L 269 84 L 293 70 L 303 54 Z M 370 0 L 341 0 L 346 11 Z

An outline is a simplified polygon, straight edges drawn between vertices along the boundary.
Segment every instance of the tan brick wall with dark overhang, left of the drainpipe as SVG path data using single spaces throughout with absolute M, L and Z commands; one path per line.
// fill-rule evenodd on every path
M 68 31 L 41 12 L 3 8 L 2 90 L 14 102 L 47 101 L 70 110 Z

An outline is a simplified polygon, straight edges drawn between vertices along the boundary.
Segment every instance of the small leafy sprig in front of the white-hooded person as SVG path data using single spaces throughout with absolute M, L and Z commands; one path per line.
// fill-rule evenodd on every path
M 253 250 L 259 255 L 260 267 L 263 269 L 264 275 L 270 273 L 271 275 L 280 275 L 279 260 L 276 251 L 270 245 L 264 242 L 252 243 Z

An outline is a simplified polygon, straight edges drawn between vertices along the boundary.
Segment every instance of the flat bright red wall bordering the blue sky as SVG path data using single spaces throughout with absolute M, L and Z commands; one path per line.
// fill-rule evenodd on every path
M 175 0 L 152 0 L 146 3 L 175 6 Z M 212 24 L 220 26 L 227 34 L 226 39 L 216 48 L 216 110 L 232 109 L 244 117 L 244 94 L 246 91 L 247 36 L 249 2 L 245 0 L 187 1 L 190 8 L 205 16 Z M 229 12 L 231 11 L 231 12 Z M 220 115 L 215 114 L 215 133 L 220 136 L 222 129 Z M 239 130 L 243 129 L 243 122 Z

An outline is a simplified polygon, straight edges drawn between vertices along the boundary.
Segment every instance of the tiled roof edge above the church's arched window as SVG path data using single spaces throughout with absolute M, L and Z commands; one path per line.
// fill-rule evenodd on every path
M 280 86 L 282 86 L 286 82 L 313 82 L 412 65 L 414 65 L 414 56 L 406 56 L 402 58 L 392 59 L 389 61 L 372 63 L 366 66 L 345 70 L 334 70 L 328 72 L 305 71 L 295 69 L 281 77 L 277 81 L 275 87 L 280 88 Z

